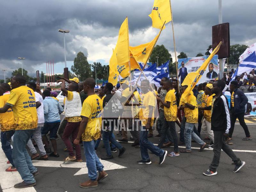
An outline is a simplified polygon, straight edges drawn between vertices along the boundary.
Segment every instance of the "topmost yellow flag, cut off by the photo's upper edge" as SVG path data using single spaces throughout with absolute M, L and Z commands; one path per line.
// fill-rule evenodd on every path
M 170 0 L 155 0 L 148 16 L 152 19 L 152 27 L 161 29 L 164 21 L 168 23 L 172 20 Z

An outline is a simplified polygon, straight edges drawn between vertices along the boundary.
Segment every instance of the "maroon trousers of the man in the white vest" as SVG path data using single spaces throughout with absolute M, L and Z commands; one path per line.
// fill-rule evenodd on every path
M 80 122 L 68 122 L 65 127 L 64 133 L 62 135 L 62 140 L 64 141 L 64 143 L 68 149 L 69 156 L 75 156 L 71 141 L 73 142 L 76 139 L 77 133 L 79 131 L 80 123 L 81 123 L 81 121 Z M 71 141 L 69 140 L 70 135 L 72 135 Z M 74 146 L 75 146 L 75 150 L 76 150 L 76 159 L 80 160 L 81 159 L 80 145 L 74 144 Z M 94 148 L 93 148 L 93 150 L 94 150 Z

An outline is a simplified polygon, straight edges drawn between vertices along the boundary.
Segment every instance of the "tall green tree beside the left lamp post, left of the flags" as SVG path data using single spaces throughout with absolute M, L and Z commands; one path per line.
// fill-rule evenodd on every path
M 71 66 L 71 70 L 76 74 L 80 81 L 84 81 L 86 78 L 91 77 L 92 71 L 87 61 L 87 57 L 83 52 L 78 52 L 74 59 L 74 65 Z

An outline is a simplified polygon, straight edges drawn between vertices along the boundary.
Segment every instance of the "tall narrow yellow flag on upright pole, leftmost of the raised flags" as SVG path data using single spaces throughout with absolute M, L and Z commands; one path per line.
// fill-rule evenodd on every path
M 128 18 L 126 17 L 119 29 L 119 35 L 116 43 L 117 63 L 122 64 L 130 60 L 129 52 L 129 29 Z

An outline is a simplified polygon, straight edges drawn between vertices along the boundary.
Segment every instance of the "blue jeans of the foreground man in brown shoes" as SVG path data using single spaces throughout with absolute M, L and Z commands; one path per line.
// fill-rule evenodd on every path
M 84 155 L 86 158 L 86 166 L 88 169 L 88 177 L 90 180 L 97 180 L 97 171 L 103 171 L 103 164 L 100 163 L 100 159 L 94 151 L 94 140 L 83 141 L 84 145 Z

